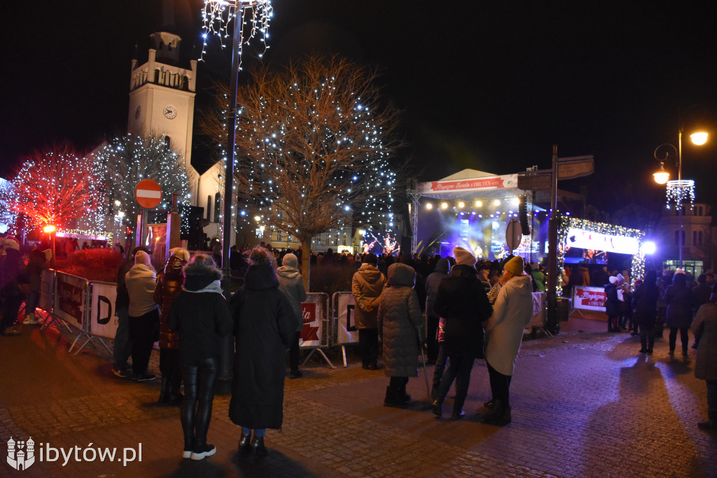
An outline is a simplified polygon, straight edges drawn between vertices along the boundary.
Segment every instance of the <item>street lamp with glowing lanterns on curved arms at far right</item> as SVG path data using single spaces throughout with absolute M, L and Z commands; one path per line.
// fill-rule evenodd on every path
M 695 199 L 695 181 L 682 178 L 682 133 L 683 127 L 680 125 L 680 131 L 678 133 L 678 148 L 675 148 L 675 145 L 670 143 L 661 144 L 655 148 L 654 156 L 657 161 L 660 161 L 660 170 L 652 174 L 657 184 L 667 184 L 668 204 L 670 201 L 675 201 L 675 207 L 677 208 L 678 216 L 680 218 L 680 229 L 678 230 L 680 269 L 682 269 L 683 246 L 682 202 L 685 198 L 689 198 L 690 202 Z M 707 137 L 708 134 L 703 131 L 690 135 L 690 138 L 695 145 L 703 145 L 707 142 Z M 665 156 L 660 156 L 660 151 L 665 148 L 668 148 L 668 150 L 665 151 Z M 677 179 L 672 181 L 668 181 L 670 179 L 670 173 L 665 171 L 665 161 L 670 159 L 670 148 L 675 150 L 675 167 L 677 168 Z

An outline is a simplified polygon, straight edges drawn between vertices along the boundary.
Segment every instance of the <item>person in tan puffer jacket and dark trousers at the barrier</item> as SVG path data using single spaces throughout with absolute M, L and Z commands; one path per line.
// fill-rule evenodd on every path
M 365 254 L 363 264 L 351 280 L 351 292 L 356 308 L 353 317 L 359 329 L 359 353 L 364 370 L 379 370 L 379 296 L 386 287 L 386 277 L 376 267 L 376 254 Z

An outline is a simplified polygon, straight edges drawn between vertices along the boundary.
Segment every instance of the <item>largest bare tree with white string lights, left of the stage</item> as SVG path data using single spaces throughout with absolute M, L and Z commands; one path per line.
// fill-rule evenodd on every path
M 402 141 L 399 111 L 379 101 L 377 76 L 345 59 L 306 58 L 252 70 L 237 92 L 232 216 L 295 236 L 307 282 L 314 236 L 352 221 L 389 222 L 399 186 L 390 158 Z M 204 115 L 202 125 L 224 144 L 229 90 L 217 89 L 223 114 Z

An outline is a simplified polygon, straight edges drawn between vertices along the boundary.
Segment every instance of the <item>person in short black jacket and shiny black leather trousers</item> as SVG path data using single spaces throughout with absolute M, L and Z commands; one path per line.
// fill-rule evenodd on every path
M 206 443 L 219 376 L 222 338 L 232 333 L 232 313 L 222 295 L 222 271 L 212 258 L 196 254 L 184 266 L 184 287 L 169 309 L 169 330 L 179 333 L 184 398 L 182 457 L 200 460 L 217 453 Z

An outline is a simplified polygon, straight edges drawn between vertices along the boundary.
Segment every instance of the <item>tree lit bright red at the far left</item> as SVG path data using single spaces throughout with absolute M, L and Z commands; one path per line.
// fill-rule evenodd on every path
M 33 153 L 6 189 L 8 207 L 26 218 L 25 229 L 43 224 L 72 227 L 85 219 L 101 227 L 103 173 L 89 158 L 78 156 L 69 146 Z

